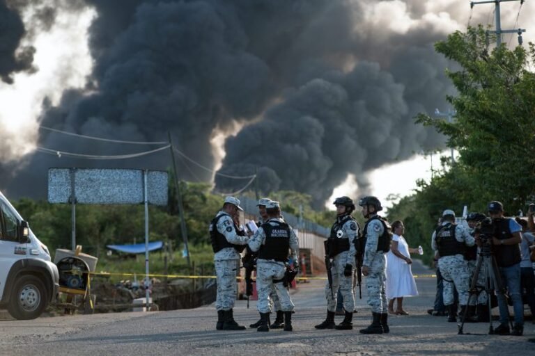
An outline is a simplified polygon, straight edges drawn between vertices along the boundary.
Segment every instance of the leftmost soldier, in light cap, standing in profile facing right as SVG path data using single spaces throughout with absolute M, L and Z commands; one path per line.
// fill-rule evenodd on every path
M 239 236 L 232 216 L 240 208 L 240 200 L 226 197 L 223 208 L 210 223 L 210 239 L 214 251 L 215 273 L 217 275 L 217 330 L 245 330 L 245 326 L 234 321 L 233 307 L 236 300 L 236 270 L 240 252 L 249 238 Z

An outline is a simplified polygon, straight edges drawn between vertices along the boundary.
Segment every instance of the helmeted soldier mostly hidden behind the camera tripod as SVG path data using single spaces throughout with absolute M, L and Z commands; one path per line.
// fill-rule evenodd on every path
M 484 220 L 486 216 L 482 213 L 469 213 L 466 216 L 466 222 L 468 223 L 468 227 L 470 227 L 469 232 L 471 236 L 475 237 L 475 229 L 477 224 Z M 468 275 L 470 276 L 470 284 L 472 284 L 472 278 L 474 277 L 474 272 L 476 270 L 476 262 L 477 262 L 477 254 L 479 252 L 479 248 L 477 245 L 473 245 L 470 248 L 467 248 L 467 253 L 465 254 L 465 259 L 467 263 L 468 268 Z M 477 296 L 468 300 L 468 316 L 470 317 L 467 321 L 479 321 L 479 322 L 488 322 L 488 295 L 485 291 L 486 286 L 486 274 L 483 270 L 484 268 L 480 268 L 479 275 L 477 276 L 477 282 L 476 282 L 476 289 L 477 289 Z M 477 313 L 476 313 L 476 304 L 477 304 Z

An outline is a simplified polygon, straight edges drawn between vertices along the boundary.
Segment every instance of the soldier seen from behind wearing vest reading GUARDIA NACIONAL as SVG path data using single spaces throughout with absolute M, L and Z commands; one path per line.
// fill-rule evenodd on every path
M 256 260 L 256 290 L 258 302 L 256 307 L 260 312 L 261 325 L 256 330 L 269 331 L 269 316 L 271 311 L 270 293 L 272 286 L 277 289 L 284 312 L 284 331 L 292 331 L 293 302 L 284 286 L 288 249 L 291 258 L 297 259 L 297 236 L 293 229 L 280 218 L 279 202 L 267 202 L 267 223 L 261 225 L 248 243 L 248 252 L 258 251 Z

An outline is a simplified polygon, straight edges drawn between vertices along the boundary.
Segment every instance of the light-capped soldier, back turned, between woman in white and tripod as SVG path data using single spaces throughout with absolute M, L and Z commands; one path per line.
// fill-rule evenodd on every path
M 459 295 L 460 313 L 464 315 L 468 303 L 468 288 L 470 275 L 465 261 L 467 246 L 473 246 L 474 237 L 463 225 L 455 223 L 455 213 L 452 210 L 444 210 L 442 213 L 442 225 L 437 227 L 431 236 L 431 248 L 435 250 L 435 258 L 444 279 L 444 305 L 448 309 L 448 321 L 457 321 L 457 310 L 453 297 L 453 286 Z

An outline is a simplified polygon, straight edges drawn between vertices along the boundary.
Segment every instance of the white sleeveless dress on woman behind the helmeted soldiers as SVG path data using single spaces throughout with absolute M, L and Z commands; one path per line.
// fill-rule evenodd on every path
M 398 251 L 405 257 L 410 257 L 409 245 L 403 236 L 394 234 L 392 241 L 398 242 Z M 416 282 L 412 276 L 410 264 L 397 257 L 390 250 L 387 253 L 387 298 L 412 297 L 418 295 Z

